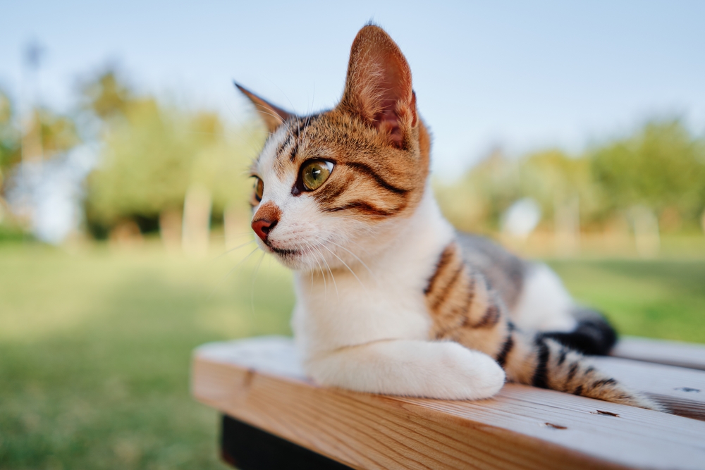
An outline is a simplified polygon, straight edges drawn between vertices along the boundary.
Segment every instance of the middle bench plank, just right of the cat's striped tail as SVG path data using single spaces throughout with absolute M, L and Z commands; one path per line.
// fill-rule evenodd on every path
M 705 420 L 705 371 L 616 357 L 591 357 L 590 361 L 674 414 Z

